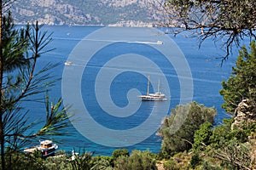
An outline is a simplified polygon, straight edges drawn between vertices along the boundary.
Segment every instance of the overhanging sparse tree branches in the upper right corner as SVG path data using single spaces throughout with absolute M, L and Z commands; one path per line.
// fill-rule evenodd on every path
M 162 8 L 165 10 L 162 24 L 175 27 L 174 34 L 188 31 L 200 42 L 207 38 L 222 40 L 227 53 L 224 59 L 229 57 L 232 46 L 239 45 L 244 37 L 256 37 L 254 0 L 165 0 Z

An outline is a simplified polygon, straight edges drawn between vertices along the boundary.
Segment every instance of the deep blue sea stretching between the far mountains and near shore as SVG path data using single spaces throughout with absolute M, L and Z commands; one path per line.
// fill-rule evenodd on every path
M 189 37 L 189 32 L 174 37 L 165 28 L 43 26 L 42 30 L 52 33 L 47 48 L 55 49 L 42 54 L 37 71 L 49 63 L 59 64 L 49 71 L 61 79 L 50 88 L 49 98 L 53 102 L 63 98 L 70 114 L 76 115 L 66 130 L 70 135 L 52 138 L 59 150 L 86 150 L 102 156 L 120 148 L 157 153 L 161 120 L 189 100 L 215 107 L 215 126 L 230 117 L 221 108 L 219 90 L 230 77 L 238 50 L 233 48 L 230 58 L 222 61 L 222 40 L 207 39 L 199 48 L 199 39 Z M 172 54 L 177 59 L 172 60 Z M 67 61 L 70 65 L 65 65 Z M 137 97 L 147 93 L 148 76 L 150 93 L 157 91 L 160 80 L 167 101 L 143 102 Z M 44 103 L 25 105 L 32 120 L 44 120 Z

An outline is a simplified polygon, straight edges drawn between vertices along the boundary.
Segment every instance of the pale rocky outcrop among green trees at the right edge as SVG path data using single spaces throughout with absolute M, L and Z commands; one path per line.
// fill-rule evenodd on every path
M 250 99 L 243 99 L 237 106 L 234 116 L 234 127 L 242 127 L 244 123 L 256 121 L 256 103 Z

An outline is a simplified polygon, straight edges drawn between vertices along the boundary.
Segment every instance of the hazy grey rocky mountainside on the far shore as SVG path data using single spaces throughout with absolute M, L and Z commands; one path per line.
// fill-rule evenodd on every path
M 26 0 L 12 5 L 15 23 L 150 26 L 156 0 Z

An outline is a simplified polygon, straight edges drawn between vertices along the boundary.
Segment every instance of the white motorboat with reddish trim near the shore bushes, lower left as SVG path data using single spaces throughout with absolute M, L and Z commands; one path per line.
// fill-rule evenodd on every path
M 56 149 L 58 149 L 57 144 L 54 144 L 51 140 L 44 140 L 40 142 L 40 145 L 24 149 L 24 152 L 32 153 L 35 150 L 41 150 L 42 157 L 46 158 L 48 156 L 55 156 Z

